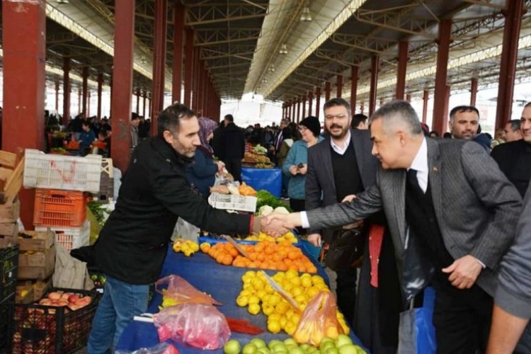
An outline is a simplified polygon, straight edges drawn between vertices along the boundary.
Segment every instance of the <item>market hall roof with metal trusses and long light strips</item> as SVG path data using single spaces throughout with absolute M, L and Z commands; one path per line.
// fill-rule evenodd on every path
M 370 57 L 381 59 L 378 98 L 394 96 L 398 43 L 409 41 L 406 93 L 433 89 L 438 23 L 452 19 L 448 84 L 452 91 L 498 82 L 503 10 L 510 0 L 183 0 L 185 25 L 217 94 L 244 93 L 287 101 L 343 74 L 350 96 L 350 66 L 360 67 L 358 101 L 367 101 Z M 46 2 L 47 79 L 62 79 L 63 57 L 74 73 L 91 68 L 92 84 L 113 66 L 114 0 Z M 171 1 L 169 1 L 171 4 Z M 302 14 L 312 21 L 300 21 Z M 525 1 L 531 7 L 531 1 Z M 166 90 L 171 89 L 173 6 L 168 6 Z M 520 33 L 517 80 L 528 75 L 531 13 Z M 154 0 L 137 0 L 134 90 L 151 91 Z M 282 52 L 282 53 L 280 53 Z M 75 79 L 79 77 L 74 76 Z

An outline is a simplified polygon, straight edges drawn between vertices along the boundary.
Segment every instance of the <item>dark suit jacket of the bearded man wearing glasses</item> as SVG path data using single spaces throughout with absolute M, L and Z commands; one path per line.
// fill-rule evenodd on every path
M 369 130 L 350 130 L 350 140 L 354 146 L 363 187 L 367 188 L 374 185 L 378 159 L 371 154 L 372 141 Z M 308 149 L 308 171 L 305 186 L 307 210 L 341 202 L 341 200 L 336 200 L 336 183 L 333 179 L 330 149 L 330 135 L 319 144 Z M 333 234 L 332 229 L 310 229 L 310 232 L 321 234 L 326 242 L 331 241 Z

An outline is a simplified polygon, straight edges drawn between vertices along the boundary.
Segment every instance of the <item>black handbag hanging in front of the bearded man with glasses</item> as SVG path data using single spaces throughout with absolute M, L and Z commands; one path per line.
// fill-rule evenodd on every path
M 367 235 L 361 228 L 341 229 L 333 234 L 324 263 L 331 270 L 348 270 L 361 265 Z

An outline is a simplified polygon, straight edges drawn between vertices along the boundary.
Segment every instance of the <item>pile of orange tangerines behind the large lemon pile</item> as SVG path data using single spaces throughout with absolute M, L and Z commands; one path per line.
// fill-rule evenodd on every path
M 217 263 L 235 267 L 317 273 L 317 268 L 312 261 L 304 256 L 301 249 L 292 246 L 290 241 L 285 240 L 280 244 L 263 241 L 256 245 L 240 245 L 240 247 L 249 258 L 241 256 L 238 250 L 228 243 L 215 244 L 205 253 L 208 253 Z

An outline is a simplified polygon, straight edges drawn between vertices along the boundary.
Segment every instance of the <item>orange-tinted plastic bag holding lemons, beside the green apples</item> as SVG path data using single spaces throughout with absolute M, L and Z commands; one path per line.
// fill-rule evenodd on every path
M 297 343 L 319 346 L 324 337 L 337 338 L 343 333 L 343 328 L 338 322 L 336 311 L 336 299 L 331 292 L 319 292 L 302 312 L 293 339 Z

